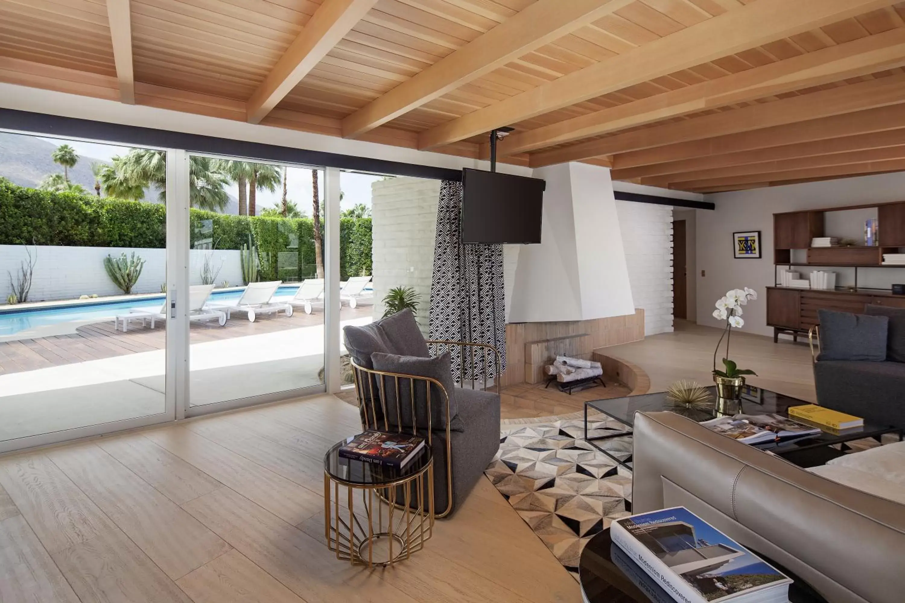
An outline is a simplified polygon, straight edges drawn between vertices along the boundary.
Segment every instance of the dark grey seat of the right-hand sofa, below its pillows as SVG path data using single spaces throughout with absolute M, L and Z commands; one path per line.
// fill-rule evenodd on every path
M 814 363 L 817 403 L 874 425 L 905 428 L 905 363 L 823 360 Z

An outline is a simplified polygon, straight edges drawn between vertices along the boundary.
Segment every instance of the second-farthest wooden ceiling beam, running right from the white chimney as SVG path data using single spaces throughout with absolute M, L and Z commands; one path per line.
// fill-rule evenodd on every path
M 905 122 L 905 116 L 903 116 Z M 872 148 L 905 145 L 905 125 L 899 129 L 885 132 L 871 132 L 852 137 L 831 138 L 829 140 L 815 140 L 813 142 L 798 143 L 786 146 L 768 146 L 754 151 L 740 151 L 738 153 L 724 153 L 695 157 L 681 161 L 671 161 L 664 164 L 642 165 L 641 167 L 629 167 L 613 170 L 614 180 L 646 179 L 666 177 L 673 174 L 687 174 L 699 170 L 713 170 L 720 167 L 733 165 L 759 164 L 767 161 L 781 161 L 785 159 L 797 159 L 800 157 L 814 157 L 817 155 L 834 155 L 836 153 L 848 153 Z

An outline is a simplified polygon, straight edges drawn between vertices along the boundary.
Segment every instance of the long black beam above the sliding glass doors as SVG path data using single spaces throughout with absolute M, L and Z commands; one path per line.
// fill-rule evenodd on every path
M 260 162 L 310 165 L 311 167 L 338 167 L 355 172 L 413 176 L 433 180 L 462 181 L 462 170 L 453 170 L 433 165 L 406 164 L 374 157 L 340 155 L 323 151 L 310 151 L 291 146 L 267 145 L 263 143 L 233 140 L 232 138 L 207 137 L 186 134 L 153 127 L 124 126 L 106 121 L 64 118 L 58 115 L 0 108 L 0 129 L 15 130 L 29 134 L 84 138 L 127 146 L 152 146 L 157 148 L 180 148 L 199 155 L 226 155 Z

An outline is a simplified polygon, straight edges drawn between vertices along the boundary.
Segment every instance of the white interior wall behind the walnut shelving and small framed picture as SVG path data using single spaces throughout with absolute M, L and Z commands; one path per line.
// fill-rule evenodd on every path
M 697 212 L 698 323 L 719 325 L 713 303 L 731 288 L 753 287 L 758 299 L 745 306 L 745 330 L 772 334 L 767 327 L 765 287 L 773 285 L 773 214 L 863 203 L 887 203 L 905 199 L 905 173 L 878 174 L 818 183 L 790 184 L 736 193 L 707 196 L 716 211 Z M 860 218 L 859 218 L 860 219 Z M 732 233 L 761 231 L 761 259 L 733 259 Z M 882 225 L 880 227 L 882 236 Z M 833 235 L 833 231 L 826 234 Z M 844 235 L 843 235 L 844 236 Z M 853 284 L 853 269 L 836 269 L 839 284 Z M 705 277 L 700 276 L 705 270 Z M 805 268 L 810 270 L 810 268 Z M 859 269 L 862 287 L 889 287 L 905 282 L 905 269 Z

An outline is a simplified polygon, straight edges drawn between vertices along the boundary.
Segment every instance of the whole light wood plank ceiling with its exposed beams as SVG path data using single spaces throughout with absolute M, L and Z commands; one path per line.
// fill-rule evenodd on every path
M 905 2 L 0 0 L 0 81 L 717 192 L 905 169 Z M 134 90 L 134 92 L 132 91 Z

